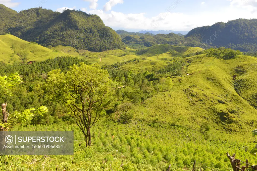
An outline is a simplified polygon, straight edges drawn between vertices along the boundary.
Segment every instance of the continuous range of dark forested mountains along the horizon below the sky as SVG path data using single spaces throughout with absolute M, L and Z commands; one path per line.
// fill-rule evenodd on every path
M 0 23 L 0 35 L 10 33 L 44 47 L 62 45 L 100 52 L 124 49 L 125 44 L 135 49 L 170 44 L 204 49 L 226 47 L 246 52 L 257 51 L 257 19 L 241 18 L 227 23 L 218 22 L 212 26 L 194 28 L 188 33 L 173 30 L 115 32 L 106 27 L 99 16 L 79 10 L 68 9 L 59 13 L 31 8 L 17 13 L 0 4 Z

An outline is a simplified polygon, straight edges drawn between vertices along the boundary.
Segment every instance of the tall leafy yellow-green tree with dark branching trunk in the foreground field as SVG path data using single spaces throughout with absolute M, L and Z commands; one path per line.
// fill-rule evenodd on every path
M 86 146 L 91 145 L 91 127 L 105 113 L 112 102 L 109 74 L 99 65 L 73 65 L 63 73 L 60 69 L 48 73 L 46 90 L 53 98 L 70 109 L 76 124 L 83 132 Z

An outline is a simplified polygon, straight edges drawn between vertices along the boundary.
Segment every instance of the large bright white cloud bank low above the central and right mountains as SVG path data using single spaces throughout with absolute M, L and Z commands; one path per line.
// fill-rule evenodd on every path
M 232 1 L 232 0 L 231 0 Z M 236 1 L 236 0 L 233 0 Z M 239 0 L 241 2 L 241 0 Z M 256 0 L 257 1 L 257 0 Z M 228 22 L 238 18 L 256 18 L 246 7 L 230 5 L 221 8 L 196 11 L 192 13 L 160 13 L 154 17 L 146 17 L 145 13 L 124 14 L 121 12 L 105 12 L 104 10 L 84 9 L 87 13 L 100 16 L 106 26 L 133 30 L 177 30 L 189 31 L 196 27 L 213 25 L 217 22 Z

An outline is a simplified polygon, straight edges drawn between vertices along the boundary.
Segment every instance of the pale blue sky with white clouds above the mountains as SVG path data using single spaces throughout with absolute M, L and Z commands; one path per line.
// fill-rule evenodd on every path
M 21 11 L 41 6 L 53 11 L 82 10 L 97 14 L 114 30 L 175 30 L 257 18 L 257 0 L 0 0 Z

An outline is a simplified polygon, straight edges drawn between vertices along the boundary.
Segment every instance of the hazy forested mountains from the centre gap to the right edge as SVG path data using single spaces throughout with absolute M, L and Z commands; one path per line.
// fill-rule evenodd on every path
M 219 22 L 212 26 L 197 27 L 185 36 L 175 33 L 154 35 L 155 33 L 145 33 L 146 31 L 131 33 L 117 30 L 116 32 L 127 46 L 132 47 L 136 47 L 135 45 L 151 47 L 157 44 L 170 44 L 205 49 L 226 47 L 245 52 L 257 50 L 257 19 L 236 19 L 227 23 Z

